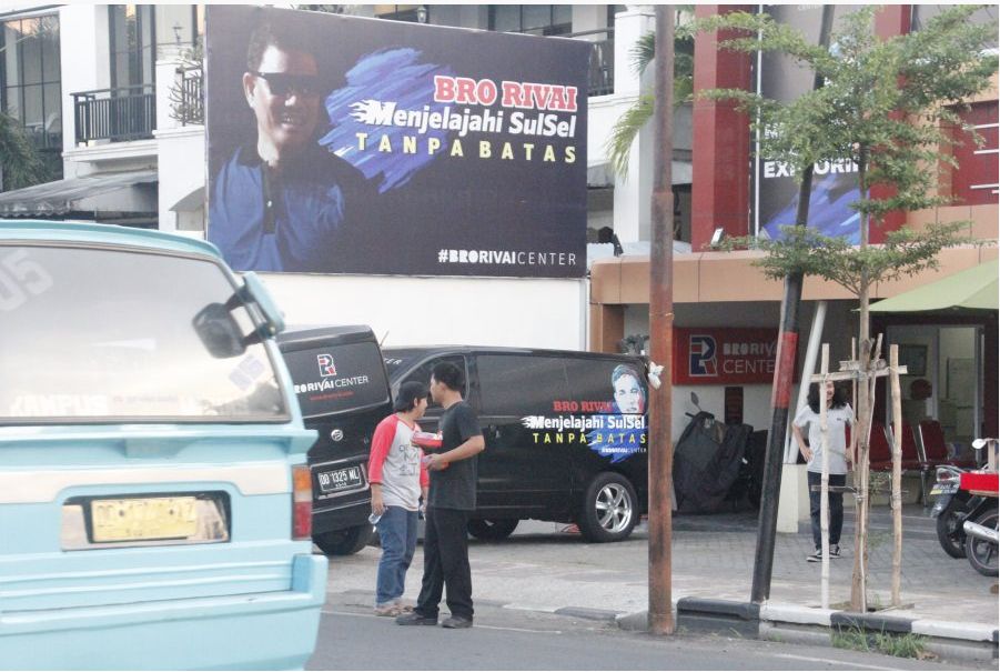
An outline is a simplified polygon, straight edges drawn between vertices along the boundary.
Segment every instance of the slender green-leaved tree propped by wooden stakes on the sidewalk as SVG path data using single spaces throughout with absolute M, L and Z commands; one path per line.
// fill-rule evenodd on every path
M 962 242 L 964 222 L 929 227 L 926 233 L 892 232 L 881 247 L 869 245 L 870 227 L 881 225 L 892 211 L 912 211 L 947 204 L 938 193 L 942 163 L 954 160 L 942 148 L 956 141 L 950 132 L 961 126 L 963 101 L 990 86 L 997 56 L 984 48 L 996 40 L 996 27 L 972 23 L 980 7 L 952 7 L 919 31 L 881 40 L 872 24 L 878 8 L 867 7 L 845 17 L 831 39 L 831 48 L 810 44 L 788 26 L 767 14 L 745 12 L 698 21 L 696 30 L 746 31 L 720 42 L 720 48 L 747 53 L 782 52 L 822 78 L 824 86 L 782 103 L 744 90 L 700 92 L 716 100 L 733 100 L 749 113 L 760 137 L 760 154 L 786 163 L 800 177 L 817 162 L 852 160 L 858 167 L 858 198 L 851 204 L 860 214 L 860 245 L 820 235 L 808 228 L 786 227 L 781 240 L 744 238 L 735 247 L 755 247 L 767 255 L 758 262 L 769 278 L 800 272 L 841 284 L 860 303 L 859 343 L 871 349 L 869 293 L 872 283 L 912 275 L 937 267 L 941 249 Z M 967 128 L 977 142 L 974 129 Z M 872 197 L 872 188 L 888 193 Z M 790 223 L 790 222 L 789 222 Z M 877 353 L 875 353 L 877 357 Z M 862 373 L 869 361 L 862 358 Z M 870 399 L 859 385 L 858 470 L 867 473 Z M 856 473 L 857 473 L 856 472 Z M 867 525 L 867 479 L 858 482 L 861 502 L 859 530 Z M 866 540 L 856 536 L 851 608 L 865 611 Z

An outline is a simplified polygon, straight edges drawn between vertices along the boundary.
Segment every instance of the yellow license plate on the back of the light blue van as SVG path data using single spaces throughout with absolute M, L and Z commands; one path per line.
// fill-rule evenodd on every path
M 93 541 L 185 539 L 198 532 L 196 498 L 156 497 L 94 500 Z

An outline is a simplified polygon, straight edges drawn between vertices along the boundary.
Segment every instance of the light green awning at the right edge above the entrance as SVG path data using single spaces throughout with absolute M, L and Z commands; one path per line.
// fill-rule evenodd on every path
M 937 282 L 872 303 L 871 312 L 925 312 L 930 310 L 998 310 L 1000 260 L 987 261 Z

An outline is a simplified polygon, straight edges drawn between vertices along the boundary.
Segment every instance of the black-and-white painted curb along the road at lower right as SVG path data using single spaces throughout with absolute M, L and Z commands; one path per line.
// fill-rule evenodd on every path
M 998 630 L 984 624 L 704 598 L 683 598 L 677 601 L 676 610 L 677 628 L 689 632 L 827 646 L 834 645 L 834 635 L 845 631 L 912 633 L 925 638 L 927 651 L 947 660 L 998 660 Z M 648 630 L 645 611 L 619 615 L 616 622 L 623 630 Z

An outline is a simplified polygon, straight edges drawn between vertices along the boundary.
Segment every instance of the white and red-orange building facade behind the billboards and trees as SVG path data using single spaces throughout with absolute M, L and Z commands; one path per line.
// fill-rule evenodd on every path
M 625 253 L 615 255 L 608 243 L 590 245 L 587 280 L 267 275 L 290 321 L 370 323 L 386 343 L 396 345 L 461 341 L 617 351 L 627 337 L 639 343 L 648 338 L 653 134 L 649 129 L 640 132 L 627 178 L 608 168 L 606 143 L 614 123 L 651 86 L 651 71 L 634 71 L 630 51 L 653 30 L 653 7 L 344 8 L 385 20 L 590 42 L 588 240 L 617 239 Z M 698 6 L 696 13 L 756 8 Z M 887 6 L 878 14 L 877 31 L 890 37 L 919 29 L 930 11 L 925 6 Z M 200 56 L 193 51 L 205 30 L 203 7 L 21 3 L 0 13 L 0 110 L 23 126 L 51 166 L 48 183 L 0 193 L 0 217 L 95 219 L 204 235 L 202 77 Z M 752 88 L 754 59 L 721 51 L 715 40 L 707 34 L 696 39 L 695 89 Z M 959 169 L 942 183 L 962 204 L 897 215 L 890 228 L 967 219 L 973 237 L 997 239 L 996 79 L 991 91 L 970 102 L 970 119 L 992 144 L 979 153 L 960 150 L 968 156 L 957 157 Z M 675 111 L 674 124 L 675 324 L 688 335 L 714 333 L 719 342 L 731 340 L 749 354 L 755 343 L 767 340 L 760 340 L 761 331 L 776 330 L 780 284 L 765 280 L 751 265 L 752 253 L 705 251 L 719 229 L 730 235 L 755 230 L 747 120 L 727 103 L 696 100 Z M 878 235 L 873 232 L 875 242 Z M 937 273 L 881 283 L 873 298 L 892 297 L 996 255 L 996 248 L 949 250 Z M 393 307 L 400 297 L 437 319 L 396 318 Z M 848 359 L 857 331 L 852 298 L 838 287 L 807 280 L 804 300 L 807 325 L 819 302 L 826 302 L 822 339 L 832 344 L 835 360 Z M 473 305 L 473 314 L 448 312 L 452 303 Z M 949 440 L 964 444 L 983 432 L 996 435 L 996 312 L 960 320 L 931 315 L 920 329 L 905 318 L 881 318 L 876 328 L 889 342 L 915 347 L 912 352 L 923 348 L 928 363 L 922 378 L 933 393 L 922 412 L 941 418 Z M 699 331 L 704 333 L 694 333 Z M 806 341 L 801 339 L 800 361 Z M 693 361 L 696 353 L 688 354 Z M 744 358 L 731 364 L 739 369 L 731 375 L 678 380 L 674 435 L 686 422 L 690 391 L 698 392 L 706 410 L 725 410 L 728 419 L 766 427 L 772 367 L 766 360 Z

